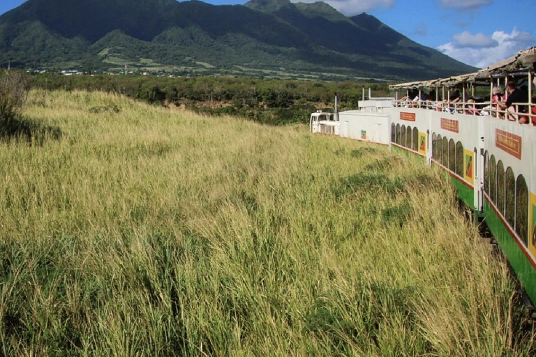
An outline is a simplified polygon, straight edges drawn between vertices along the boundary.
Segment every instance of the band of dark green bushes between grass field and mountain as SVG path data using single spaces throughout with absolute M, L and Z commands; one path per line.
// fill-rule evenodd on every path
M 144 76 L 34 75 L 31 85 L 43 91 L 81 89 L 119 93 L 153 105 L 183 107 L 211 115 L 230 114 L 267 124 L 308 122 L 311 112 L 355 109 L 363 87 L 386 96 L 385 83 L 263 80 L 241 77 L 168 78 Z

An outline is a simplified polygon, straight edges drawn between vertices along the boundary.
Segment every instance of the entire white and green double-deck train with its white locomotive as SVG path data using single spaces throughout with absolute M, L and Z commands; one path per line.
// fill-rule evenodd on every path
M 536 82 L 535 70 L 536 47 L 533 47 L 478 73 L 396 84 L 391 86 L 392 90 L 412 89 L 414 93 L 419 90 L 419 98 L 398 100 L 397 93 L 392 105 L 368 102 L 365 109 L 338 113 L 338 121 L 329 123 L 338 125 L 341 137 L 389 145 L 392 150 L 438 165 L 452 176 L 459 197 L 484 218 L 533 304 L 536 304 L 536 126 L 530 122 L 536 123 L 533 114 L 536 107 L 530 101 Z M 477 86 L 491 92 L 493 86 L 508 81 L 526 85 L 523 90 L 528 91 L 528 102 L 512 105 L 512 113 L 501 112 L 489 100 L 454 103 L 447 99 L 456 87 L 463 93 L 462 98 L 468 98 L 465 92 L 474 96 Z M 435 98 L 419 100 L 424 89 L 435 91 Z M 440 92 L 444 101 L 438 100 Z M 522 120 L 530 124 L 521 124 Z M 316 125 L 316 132 L 325 131 L 321 123 Z

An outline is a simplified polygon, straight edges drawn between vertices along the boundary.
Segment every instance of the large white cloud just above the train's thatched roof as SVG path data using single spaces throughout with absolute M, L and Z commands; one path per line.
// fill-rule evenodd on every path
M 467 31 L 463 33 L 467 33 Z M 458 61 L 478 68 L 485 68 L 514 56 L 520 50 L 536 45 L 536 38 L 533 38 L 530 33 L 521 32 L 516 28 L 512 30 L 512 33 L 495 31 L 491 38 L 486 38 L 482 33 L 475 35 L 471 33 L 463 35 L 463 33 L 454 35 L 453 42 L 440 45 L 438 50 Z M 480 40 L 482 42 L 479 42 Z M 494 45 L 483 46 L 486 41 L 488 43 L 493 41 Z

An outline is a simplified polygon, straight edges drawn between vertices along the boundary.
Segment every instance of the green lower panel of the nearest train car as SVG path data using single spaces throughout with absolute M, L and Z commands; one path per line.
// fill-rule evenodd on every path
M 514 269 L 528 297 L 533 303 L 536 303 L 536 284 L 531 283 L 536 281 L 536 270 L 533 264 L 531 264 L 523 249 L 521 249 L 516 239 L 510 234 L 509 229 L 503 224 L 499 215 L 493 211 L 487 201 L 484 203 L 484 218 L 491 234 L 499 243 L 502 252 Z

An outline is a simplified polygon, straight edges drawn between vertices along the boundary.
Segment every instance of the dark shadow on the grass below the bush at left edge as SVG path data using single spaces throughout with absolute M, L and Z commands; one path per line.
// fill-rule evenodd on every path
M 61 139 L 61 135 L 60 128 L 45 126 L 38 121 L 26 118 L 0 118 L 0 142 L 16 140 L 43 145 L 47 140 Z

